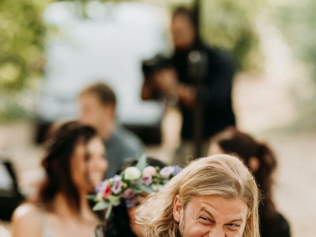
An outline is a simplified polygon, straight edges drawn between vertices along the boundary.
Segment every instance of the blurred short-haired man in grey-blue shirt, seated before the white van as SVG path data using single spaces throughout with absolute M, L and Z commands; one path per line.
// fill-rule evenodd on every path
M 133 133 L 118 127 L 116 121 L 116 96 L 104 83 L 95 83 L 79 95 L 79 120 L 97 129 L 103 137 L 109 169 L 106 177 L 113 177 L 124 160 L 139 158 L 143 143 Z

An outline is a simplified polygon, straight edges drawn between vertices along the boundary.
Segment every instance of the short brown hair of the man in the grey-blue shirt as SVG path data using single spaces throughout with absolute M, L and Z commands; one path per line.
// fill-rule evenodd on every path
M 113 89 L 103 82 L 96 82 L 84 88 L 81 91 L 80 96 L 87 95 L 87 94 L 96 95 L 99 101 L 101 102 L 101 104 L 103 105 L 108 105 L 108 104 L 116 105 L 117 103 L 117 99 L 116 99 Z

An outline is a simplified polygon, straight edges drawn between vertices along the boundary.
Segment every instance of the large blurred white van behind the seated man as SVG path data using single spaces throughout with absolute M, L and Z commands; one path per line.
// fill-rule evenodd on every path
M 81 13 L 76 1 L 52 3 L 44 12 L 51 30 L 38 99 L 37 141 L 49 123 L 77 118 L 79 92 L 100 80 L 114 89 L 123 125 L 141 133 L 157 130 L 164 106 L 142 101 L 141 63 L 168 51 L 165 12 L 143 3 L 89 1 L 86 17 Z

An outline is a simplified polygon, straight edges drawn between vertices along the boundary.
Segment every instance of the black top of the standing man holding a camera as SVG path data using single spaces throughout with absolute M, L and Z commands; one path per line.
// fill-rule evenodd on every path
M 202 82 L 203 133 L 204 138 L 208 138 L 226 126 L 236 124 L 231 96 L 235 70 L 232 60 L 223 51 L 202 43 L 192 47 L 191 50 L 195 49 L 204 51 L 208 58 L 208 72 Z M 197 86 L 197 82 L 188 76 L 188 55 L 191 50 L 176 51 L 172 62 L 180 82 Z M 192 140 L 194 123 L 192 110 L 182 105 L 180 108 L 183 116 L 182 138 Z

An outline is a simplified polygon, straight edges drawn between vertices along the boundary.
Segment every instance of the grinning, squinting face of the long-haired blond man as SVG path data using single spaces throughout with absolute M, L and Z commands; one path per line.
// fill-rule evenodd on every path
M 240 198 L 197 196 L 184 208 L 176 196 L 173 203 L 181 237 L 242 237 L 247 213 L 247 204 Z

